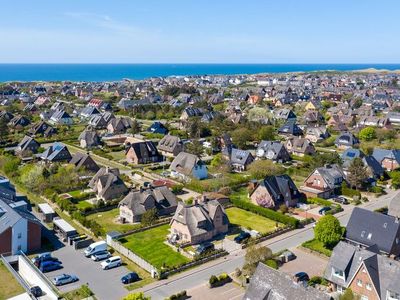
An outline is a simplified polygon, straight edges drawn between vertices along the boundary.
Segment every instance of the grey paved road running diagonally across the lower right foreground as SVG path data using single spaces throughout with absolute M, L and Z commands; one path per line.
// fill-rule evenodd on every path
M 371 199 L 370 202 L 364 203 L 360 205 L 360 207 L 368 210 L 375 210 L 387 206 L 389 201 L 397 193 L 396 191 L 388 191 L 387 195 Z M 343 226 L 347 224 L 352 209 L 353 206 L 351 205 L 344 206 L 344 211 L 336 215 Z M 278 252 L 283 249 L 297 247 L 313 237 L 314 231 L 312 225 L 308 225 L 305 228 L 290 231 L 276 238 L 267 240 L 263 242 L 262 245 L 268 246 L 273 252 Z M 211 275 L 220 274 L 222 272 L 231 273 L 236 268 L 242 267 L 244 263 L 244 254 L 245 252 L 243 250 L 231 253 L 227 257 L 202 265 L 194 270 L 178 274 L 171 279 L 148 285 L 144 287 L 142 291 L 144 291 L 146 295 L 151 296 L 152 299 L 164 299 L 179 291 L 195 288 L 204 284 Z

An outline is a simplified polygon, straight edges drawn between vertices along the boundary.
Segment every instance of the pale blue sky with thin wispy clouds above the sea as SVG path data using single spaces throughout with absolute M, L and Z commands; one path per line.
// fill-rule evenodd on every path
M 398 0 L 1 0 L 0 63 L 400 63 Z

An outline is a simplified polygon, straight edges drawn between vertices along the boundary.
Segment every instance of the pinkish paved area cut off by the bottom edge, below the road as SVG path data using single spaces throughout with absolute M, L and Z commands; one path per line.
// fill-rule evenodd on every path
M 206 284 L 189 289 L 188 296 L 191 299 L 207 300 L 239 300 L 243 298 L 245 290 L 235 283 L 227 283 L 221 287 L 210 289 Z

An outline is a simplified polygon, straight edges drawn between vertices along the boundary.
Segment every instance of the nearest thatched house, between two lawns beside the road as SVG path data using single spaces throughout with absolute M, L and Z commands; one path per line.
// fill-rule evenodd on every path
M 200 244 L 227 233 L 229 220 L 218 201 L 193 205 L 179 202 L 170 225 L 170 241 Z

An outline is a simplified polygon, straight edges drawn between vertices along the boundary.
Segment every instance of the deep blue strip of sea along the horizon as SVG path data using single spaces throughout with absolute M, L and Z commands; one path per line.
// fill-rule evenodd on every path
M 230 75 L 299 71 L 398 70 L 400 64 L 0 64 L 5 81 L 117 81 L 172 75 Z

